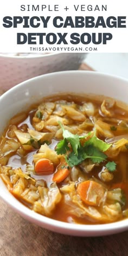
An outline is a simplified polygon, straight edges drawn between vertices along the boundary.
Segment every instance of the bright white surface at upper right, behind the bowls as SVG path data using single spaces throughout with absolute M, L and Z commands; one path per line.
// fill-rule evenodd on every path
M 128 79 L 128 53 L 91 53 L 85 62 L 96 71 Z

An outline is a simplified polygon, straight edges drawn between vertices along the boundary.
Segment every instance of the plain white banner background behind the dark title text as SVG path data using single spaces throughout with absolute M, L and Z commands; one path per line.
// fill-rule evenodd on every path
M 54 9 L 54 4 L 59 4 L 59 11 L 54 12 L 54 11 L 49 11 L 48 8 L 46 8 L 44 11 L 20 11 L 20 6 L 21 4 L 46 4 L 48 7 L 48 4 L 50 5 L 50 9 Z M 84 4 L 86 11 L 75 11 L 73 5 L 80 5 Z M 95 6 L 98 4 L 99 7 L 101 5 L 107 4 L 107 12 L 106 11 L 87 11 L 87 5 L 92 5 L 93 10 Z M 69 10 L 65 11 L 64 8 L 68 7 Z M 42 29 L 42 27 L 34 29 L 34 28 L 23 28 L 23 24 L 20 24 L 18 28 L 4 28 L 3 27 L 3 17 L 4 16 L 62 16 L 65 20 L 66 16 L 104 16 L 104 18 L 107 18 L 108 16 L 128 16 L 127 14 L 128 10 L 128 2 L 127 0 L 121 0 L 121 1 L 111 1 L 111 0 L 73 0 L 72 2 L 69 2 L 69 0 L 65 1 L 52 1 L 52 0 L 47 0 L 47 1 L 41 1 L 41 0 L 6 0 L 2 1 L 1 3 L 1 8 L 0 8 L 0 50 L 1 52 L 30 52 L 30 46 L 26 44 L 21 44 L 17 45 L 17 39 L 16 39 L 16 34 L 17 33 L 42 33 L 42 30 L 44 33 L 67 33 L 67 41 L 69 42 L 69 37 L 70 34 L 78 32 L 79 34 L 82 33 L 112 33 L 113 34 L 113 39 L 111 41 L 108 41 L 106 45 L 99 44 L 97 45 L 98 52 L 108 52 L 108 53 L 126 53 L 128 52 L 128 33 L 127 33 L 127 28 L 91 28 L 91 29 L 86 29 L 86 28 L 81 28 L 81 29 L 76 29 L 76 28 L 60 28 L 56 29 L 53 27 L 52 24 L 52 18 L 48 23 L 48 28 L 47 29 Z M 128 26 L 128 17 L 126 19 L 126 24 Z M 39 40 L 37 40 L 37 43 Z M 40 45 L 33 45 L 33 47 L 39 47 Z M 44 47 L 48 47 L 49 45 L 47 43 L 43 44 Z M 58 45 L 54 44 L 53 46 L 59 47 Z M 65 45 L 61 45 L 63 47 Z M 68 43 L 69 47 L 85 47 L 84 44 L 79 43 L 79 45 L 72 45 L 71 43 Z M 88 46 L 88 45 L 87 45 Z M 94 44 L 89 44 L 89 46 L 94 47 Z M 51 45 L 50 45 L 51 47 Z M 67 46 L 66 46 L 67 47 Z M 38 50 L 37 50 L 38 51 Z M 37 52 L 36 51 L 36 52 Z M 67 50 L 63 49 L 63 52 L 67 52 Z

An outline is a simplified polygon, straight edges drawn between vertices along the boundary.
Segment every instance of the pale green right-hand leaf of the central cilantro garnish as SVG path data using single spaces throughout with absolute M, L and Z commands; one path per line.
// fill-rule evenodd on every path
M 101 139 L 98 139 L 97 136 L 93 136 L 91 139 L 87 140 L 87 142 L 85 143 L 85 146 L 91 145 L 93 144 L 93 146 L 95 146 L 96 148 L 98 148 L 101 151 L 106 151 L 107 149 L 110 148 L 110 146 L 112 144 L 107 144 L 106 142 L 104 142 Z

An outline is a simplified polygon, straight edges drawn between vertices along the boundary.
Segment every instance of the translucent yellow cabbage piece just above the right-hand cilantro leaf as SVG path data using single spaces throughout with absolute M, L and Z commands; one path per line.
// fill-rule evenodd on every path
M 110 127 L 111 126 L 109 124 L 101 121 L 100 119 L 95 122 L 96 133 L 98 133 L 99 135 L 104 136 L 105 138 L 106 137 L 108 137 L 108 138 L 113 137 L 113 133 L 111 132 Z

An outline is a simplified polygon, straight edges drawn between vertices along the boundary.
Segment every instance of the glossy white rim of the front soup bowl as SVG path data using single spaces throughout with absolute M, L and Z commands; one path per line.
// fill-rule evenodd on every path
M 61 75 L 61 74 L 64 74 L 64 75 L 74 74 L 74 73 L 78 73 L 79 75 L 84 74 L 84 73 L 89 74 L 89 75 L 91 74 L 93 76 L 102 76 L 103 78 L 110 77 L 110 78 L 114 78 L 114 79 L 117 79 L 120 81 L 127 82 L 127 84 L 128 84 L 128 80 L 124 79 L 121 76 L 111 75 L 111 74 L 102 73 L 102 72 L 62 71 L 62 72 L 55 72 L 55 73 L 44 74 L 41 76 L 36 76 L 35 78 L 31 78 L 26 81 L 23 81 L 20 84 L 10 88 L 7 92 L 5 92 L 0 97 L 0 101 L 3 100 L 4 98 L 6 98 L 9 93 L 17 91 L 19 87 L 22 87 L 22 86 L 24 87 L 27 84 L 29 84 L 28 86 L 30 86 L 31 81 L 42 80 L 43 77 L 57 76 L 57 75 Z M 8 191 L 8 193 L 10 194 L 9 191 Z M 47 229 L 50 229 L 54 232 L 60 232 L 63 234 L 70 233 L 72 235 L 79 235 L 79 236 L 98 236 L 101 234 L 108 235 L 108 234 L 119 233 L 119 232 L 126 231 L 128 229 L 128 219 L 124 219 L 124 220 L 120 220 L 120 221 L 112 222 L 112 223 L 106 223 L 106 224 L 97 224 L 97 225 L 85 225 L 85 224 L 81 225 L 81 224 L 76 224 L 76 223 L 68 223 L 68 222 L 62 222 L 62 221 L 50 219 L 49 217 L 46 217 L 41 214 L 33 212 L 32 210 L 25 207 L 24 205 L 22 205 L 21 208 L 17 208 L 17 205 L 15 203 L 11 204 L 11 202 L 8 200 L 8 198 L 4 197 L 2 195 L 1 188 L 0 188 L 0 196 L 2 197 L 2 199 L 5 202 L 7 202 L 11 206 L 11 208 L 13 208 L 20 215 L 27 218 L 28 220 L 31 220 L 32 222 L 36 221 L 37 225 L 42 226 Z M 12 197 L 14 197 L 14 196 L 12 196 Z M 14 201 L 15 200 L 16 199 L 14 197 Z M 17 202 L 20 203 L 18 200 L 17 200 Z M 20 203 L 20 205 L 21 204 L 22 203 Z M 75 234 L 73 234 L 73 232 Z

